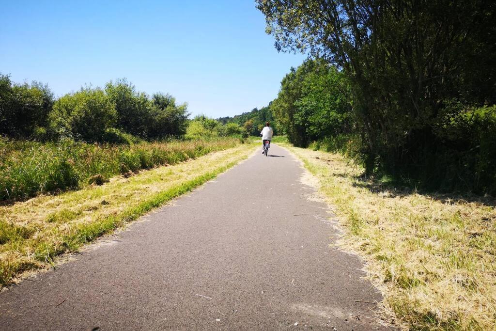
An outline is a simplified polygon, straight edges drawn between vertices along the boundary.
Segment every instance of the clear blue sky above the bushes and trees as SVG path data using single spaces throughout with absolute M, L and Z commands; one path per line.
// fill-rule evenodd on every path
M 233 116 L 277 96 L 301 54 L 277 53 L 252 0 L 0 0 L 0 72 L 56 95 L 126 77 L 189 111 Z

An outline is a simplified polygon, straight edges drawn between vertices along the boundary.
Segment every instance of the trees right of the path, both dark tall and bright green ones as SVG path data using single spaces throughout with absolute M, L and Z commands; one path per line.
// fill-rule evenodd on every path
M 276 48 L 309 52 L 271 105 L 299 146 L 368 174 L 496 192 L 496 3 L 257 0 Z

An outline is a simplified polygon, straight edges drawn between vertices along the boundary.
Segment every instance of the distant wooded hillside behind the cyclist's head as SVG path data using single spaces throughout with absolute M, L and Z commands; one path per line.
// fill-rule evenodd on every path
M 274 134 L 277 134 L 278 125 L 272 114 L 271 110 L 272 103 L 268 106 L 262 107 L 260 109 L 253 108 L 251 111 L 243 113 L 241 115 L 236 115 L 234 117 L 221 117 L 217 121 L 223 124 L 234 123 L 243 127 L 249 135 L 258 136 L 260 131 L 262 131 L 266 122 L 270 122 L 272 128 L 274 129 Z

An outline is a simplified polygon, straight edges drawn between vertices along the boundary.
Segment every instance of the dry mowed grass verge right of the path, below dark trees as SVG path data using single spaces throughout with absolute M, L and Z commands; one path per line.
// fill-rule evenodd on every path
M 366 259 L 401 327 L 496 330 L 494 198 L 399 190 L 339 154 L 286 147 L 319 179 L 345 229 L 340 245 Z

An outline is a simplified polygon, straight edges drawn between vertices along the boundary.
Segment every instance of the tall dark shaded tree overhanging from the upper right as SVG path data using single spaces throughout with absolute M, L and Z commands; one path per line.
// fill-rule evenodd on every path
M 256 2 L 278 50 L 310 52 L 349 78 L 369 172 L 431 167 L 435 128 L 496 102 L 494 2 Z

